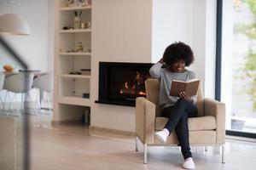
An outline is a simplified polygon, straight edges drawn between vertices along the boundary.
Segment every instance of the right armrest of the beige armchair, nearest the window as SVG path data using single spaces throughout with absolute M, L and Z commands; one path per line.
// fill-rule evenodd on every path
M 214 116 L 216 119 L 216 143 L 225 143 L 225 105 L 214 99 L 204 99 L 205 116 Z

